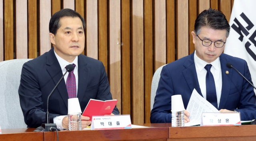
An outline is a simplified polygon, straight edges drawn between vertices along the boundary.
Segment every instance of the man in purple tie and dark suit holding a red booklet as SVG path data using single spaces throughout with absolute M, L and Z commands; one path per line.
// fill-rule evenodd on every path
M 82 111 L 90 99 L 112 99 L 102 62 L 81 55 L 85 44 L 84 29 L 84 19 L 74 10 L 56 12 L 49 24 L 53 48 L 24 64 L 18 92 L 28 127 L 46 123 L 48 95 L 68 64 L 73 64 L 74 70 L 65 75 L 49 99 L 50 123 L 56 123 L 60 129 L 68 128 L 68 98 L 77 97 Z M 119 114 L 116 107 L 112 114 Z M 90 125 L 89 119 L 82 116 L 82 128 Z

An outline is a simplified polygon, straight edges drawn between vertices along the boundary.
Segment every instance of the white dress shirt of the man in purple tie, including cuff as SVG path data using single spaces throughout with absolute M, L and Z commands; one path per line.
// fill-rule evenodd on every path
M 76 95 L 77 95 L 77 91 L 78 91 L 78 56 L 76 56 L 76 58 L 74 59 L 73 62 L 68 62 L 66 60 L 64 60 L 63 58 L 61 58 L 60 56 L 58 56 L 58 54 L 56 54 L 55 50 L 54 50 L 54 54 L 60 64 L 60 68 L 62 70 L 62 73 L 64 74 L 66 72 L 66 66 L 69 65 L 69 64 L 75 64 L 76 67 L 74 68 L 74 75 L 76 77 Z M 64 76 L 64 80 L 65 80 L 65 83 L 67 82 L 67 78 L 68 78 L 68 73 L 66 73 L 66 75 Z M 56 123 L 57 125 L 57 128 L 58 129 L 65 129 L 62 127 L 62 119 L 64 117 L 67 117 L 67 115 L 61 115 L 61 116 L 56 116 L 53 118 L 53 123 Z

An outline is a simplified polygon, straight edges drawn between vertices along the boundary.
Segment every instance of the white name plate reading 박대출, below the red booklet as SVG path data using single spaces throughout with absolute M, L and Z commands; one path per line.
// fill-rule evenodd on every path
M 92 116 L 91 130 L 131 129 L 130 115 Z

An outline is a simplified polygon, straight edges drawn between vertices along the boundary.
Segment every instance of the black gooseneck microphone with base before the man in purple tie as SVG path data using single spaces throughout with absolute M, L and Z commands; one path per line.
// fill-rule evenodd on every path
M 66 73 L 70 72 L 72 70 L 74 70 L 74 66 L 72 64 L 69 64 L 68 66 L 66 66 L 66 72 L 64 73 L 64 75 L 62 75 L 62 77 L 60 78 L 60 80 L 58 81 L 58 83 L 55 85 L 55 87 L 52 89 L 51 93 L 48 96 L 48 99 L 47 99 L 47 111 L 46 111 L 46 115 L 45 115 L 46 123 L 42 123 L 42 125 L 40 127 L 36 128 L 34 130 L 34 132 L 38 132 L 38 131 L 56 131 L 57 125 L 55 123 L 50 123 L 50 115 L 49 115 L 49 111 L 48 111 L 49 98 L 52 95 L 52 92 L 59 85 L 59 83 L 62 80 L 62 78 L 66 75 Z M 53 129 L 52 127 L 55 127 L 56 129 Z M 57 129 L 57 130 L 60 131 L 59 129 Z

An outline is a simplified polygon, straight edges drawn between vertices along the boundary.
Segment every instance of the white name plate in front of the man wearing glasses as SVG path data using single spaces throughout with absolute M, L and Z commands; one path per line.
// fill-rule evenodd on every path
M 201 126 L 241 125 L 240 112 L 202 113 Z

